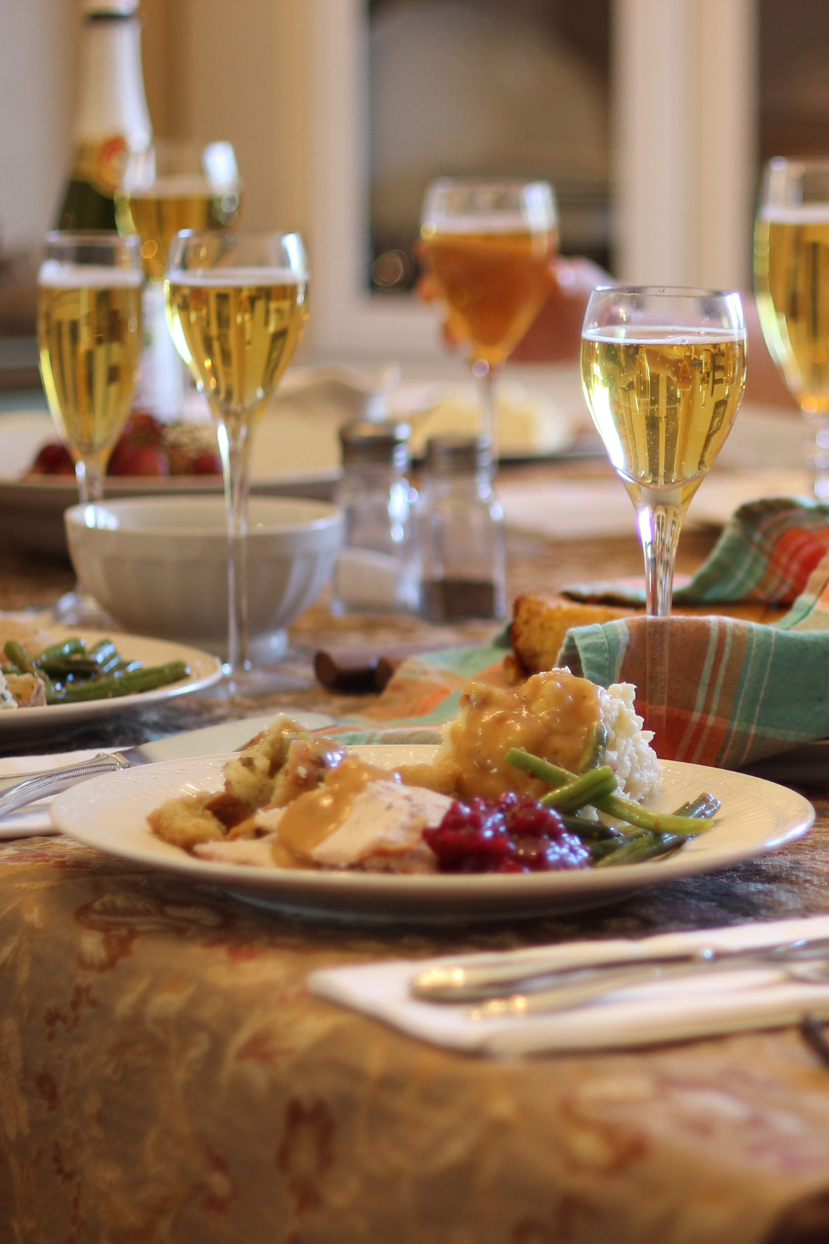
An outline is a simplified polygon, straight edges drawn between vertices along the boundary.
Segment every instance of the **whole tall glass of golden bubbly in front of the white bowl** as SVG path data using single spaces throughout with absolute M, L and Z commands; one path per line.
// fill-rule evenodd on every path
M 268 680 L 247 657 L 250 449 L 308 316 L 302 240 L 295 233 L 180 233 L 164 296 L 176 350 L 210 403 L 219 437 L 229 536 L 226 690 L 256 694 Z

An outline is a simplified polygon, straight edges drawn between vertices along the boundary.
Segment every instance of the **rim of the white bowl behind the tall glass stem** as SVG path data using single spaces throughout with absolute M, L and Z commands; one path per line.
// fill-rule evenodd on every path
M 111 510 L 116 518 L 122 513 L 129 515 L 131 513 L 139 511 L 145 505 L 163 505 L 165 509 L 172 510 L 191 510 L 194 504 L 209 506 L 210 509 L 221 509 L 224 513 L 225 501 L 221 496 L 174 496 L 174 498 L 157 498 L 157 496 L 123 496 L 114 500 L 108 500 L 104 498 L 103 501 L 96 501 L 92 504 L 92 509 Z M 303 498 L 303 496 L 251 496 L 250 498 L 251 509 L 268 506 L 275 510 L 287 510 L 302 506 L 303 509 L 311 508 L 312 514 L 316 515 L 297 521 L 257 521 L 250 515 L 249 511 L 249 536 L 256 539 L 262 536 L 276 536 L 276 535 L 300 535 L 303 532 L 313 531 L 327 531 L 329 529 L 339 527 L 343 522 L 343 511 L 338 505 L 332 501 L 319 501 L 316 498 Z M 155 539 L 163 537 L 165 540 L 193 540 L 198 537 L 221 537 L 226 539 L 226 530 L 224 527 L 215 526 L 173 526 L 170 524 L 147 524 L 142 526 L 107 526 L 99 525 L 97 522 L 87 522 L 86 514 L 89 506 L 86 505 L 71 505 L 63 511 L 63 521 L 67 530 L 71 527 L 80 531 L 94 531 L 104 539 L 112 539 L 113 536 L 131 537 L 131 539 L 143 539 L 147 536 L 153 536 Z

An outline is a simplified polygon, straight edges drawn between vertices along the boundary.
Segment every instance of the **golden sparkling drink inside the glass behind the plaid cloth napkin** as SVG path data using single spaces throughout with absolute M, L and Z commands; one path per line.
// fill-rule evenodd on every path
M 618 335 L 616 335 L 618 332 Z M 603 330 L 582 340 L 582 383 L 593 422 L 634 501 L 643 490 L 687 505 L 720 453 L 746 383 L 736 335 Z

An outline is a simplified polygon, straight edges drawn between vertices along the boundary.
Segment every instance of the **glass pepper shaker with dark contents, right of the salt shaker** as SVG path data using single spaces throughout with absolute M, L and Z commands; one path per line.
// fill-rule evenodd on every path
M 418 514 L 420 612 L 430 622 L 500 618 L 506 606 L 503 510 L 485 437 L 433 437 Z

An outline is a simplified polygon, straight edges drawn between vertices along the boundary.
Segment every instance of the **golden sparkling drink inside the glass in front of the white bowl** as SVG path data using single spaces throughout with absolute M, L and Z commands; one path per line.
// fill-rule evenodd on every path
M 271 396 L 308 317 L 307 281 L 287 271 L 181 272 L 165 281 L 170 331 L 225 420 Z

